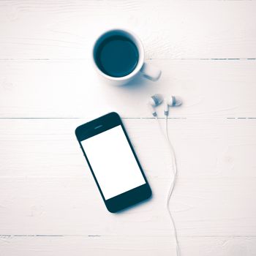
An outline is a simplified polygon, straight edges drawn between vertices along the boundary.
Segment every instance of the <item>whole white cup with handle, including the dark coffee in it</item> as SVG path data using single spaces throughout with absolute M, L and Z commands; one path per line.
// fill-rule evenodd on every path
M 93 62 L 99 75 L 119 86 L 128 83 L 140 73 L 156 81 L 161 71 L 144 60 L 142 42 L 131 31 L 111 29 L 94 43 Z

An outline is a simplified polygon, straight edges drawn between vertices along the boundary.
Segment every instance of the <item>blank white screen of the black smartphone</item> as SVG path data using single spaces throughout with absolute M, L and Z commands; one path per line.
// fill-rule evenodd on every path
M 146 184 L 121 125 L 81 143 L 105 200 Z

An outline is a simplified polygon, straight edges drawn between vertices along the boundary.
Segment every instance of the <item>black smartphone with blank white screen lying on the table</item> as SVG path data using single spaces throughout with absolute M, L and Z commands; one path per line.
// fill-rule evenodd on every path
M 117 113 L 81 125 L 75 135 L 108 211 L 115 213 L 151 197 L 151 188 Z

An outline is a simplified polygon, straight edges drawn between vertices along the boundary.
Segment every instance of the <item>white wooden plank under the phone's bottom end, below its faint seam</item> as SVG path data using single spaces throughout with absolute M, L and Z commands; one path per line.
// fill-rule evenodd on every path
M 148 176 L 154 196 L 110 214 L 91 176 L 0 178 L 4 235 L 170 236 L 170 179 Z M 170 207 L 178 236 L 256 236 L 256 179 L 179 178 Z

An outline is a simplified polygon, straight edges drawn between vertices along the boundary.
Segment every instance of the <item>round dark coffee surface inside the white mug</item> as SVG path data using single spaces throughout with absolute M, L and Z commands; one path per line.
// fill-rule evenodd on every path
M 121 78 L 135 69 L 139 53 L 132 40 L 116 35 L 100 43 L 94 58 L 99 69 L 106 75 Z

